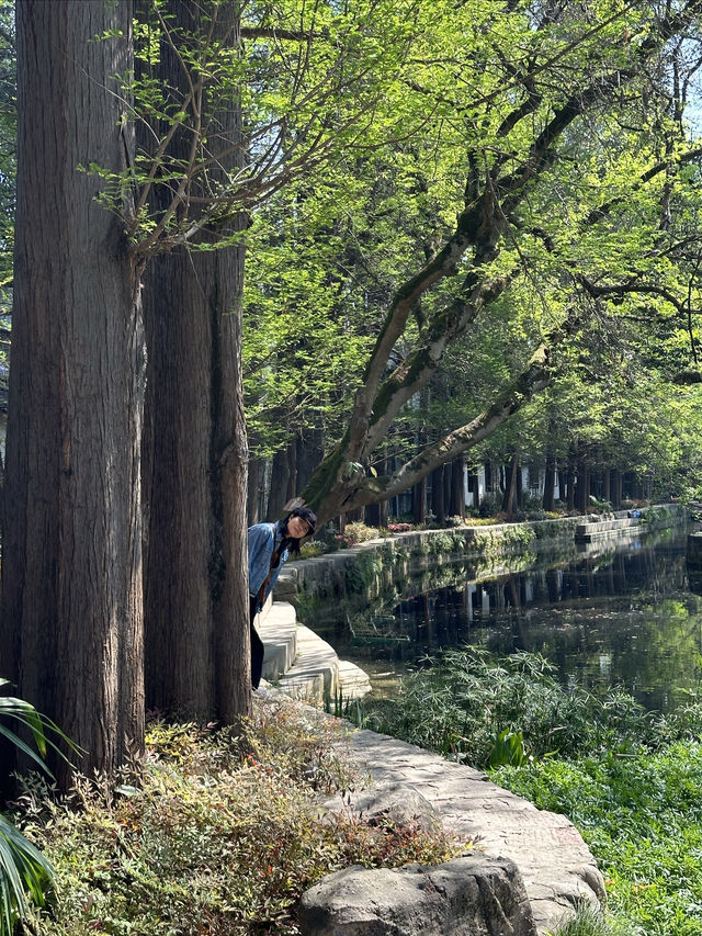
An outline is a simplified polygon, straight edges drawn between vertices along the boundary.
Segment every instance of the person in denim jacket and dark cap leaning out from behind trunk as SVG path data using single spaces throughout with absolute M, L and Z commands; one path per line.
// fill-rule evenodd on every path
M 254 619 L 281 574 L 291 553 L 299 553 L 301 541 L 317 529 L 308 507 L 297 507 L 276 523 L 249 527 L 249 630 L 251 634 L 251 686 L 258 689 L 263 670 L 263 641 Z

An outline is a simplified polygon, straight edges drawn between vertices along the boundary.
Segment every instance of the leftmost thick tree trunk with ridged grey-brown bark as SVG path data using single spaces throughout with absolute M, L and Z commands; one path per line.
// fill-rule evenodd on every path
M 136 274 L 92 161 L 133 153 L 132 7 L 16 4 L 18 208 L 0 672 L 113 770 L 144 742 Z M 97 36 L 112 36 L 97 41 Z M 66 787 L 70 770 L 55 765 Z

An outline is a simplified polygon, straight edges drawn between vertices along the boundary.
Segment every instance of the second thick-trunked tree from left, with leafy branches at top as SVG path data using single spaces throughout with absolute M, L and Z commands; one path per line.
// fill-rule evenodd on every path
M 144 277 L 147 703 L 227 721 L 250 706 L 245 210 L 361 137 L 408 42 L 392 3 L 252 12 L 242 24 L 236 2 L 139 4 L 140 194 L 126 219 L 136 252 L 157 253 Z M 374 56 L 388 48 L 377 76 L 364 33 Z

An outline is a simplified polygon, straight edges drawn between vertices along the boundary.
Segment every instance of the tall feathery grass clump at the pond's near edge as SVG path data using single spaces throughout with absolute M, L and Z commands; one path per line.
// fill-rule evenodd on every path
M 670 734 L 665 720 L 625 692 L 564 687 L 539 654 L 494 659 L 479 647 L 427 657 L 395 699 L 366 707 L 363 718 L 365 728 L 478 767 L 495 764 L 500 751 L 509 756 L 509 741 L 519 763 L 520 756 L 633 751 Z

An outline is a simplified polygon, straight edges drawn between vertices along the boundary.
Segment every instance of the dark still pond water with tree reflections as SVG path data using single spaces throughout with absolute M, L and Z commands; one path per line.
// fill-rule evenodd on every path
M 327 639 L 382 692 L 427 654 L 478 644 L 496 654 L 541 653 L 564 681 L 622 686 L 667 711 L 683 699 L 680 690 L 701 687 L 702 597 L 688 588 L 688 532 L 609 541 L 567 559 L 544 555 L 491 578 L 444 567 L 442 587 L 403 583 L 401 600 L 386 596 L 344 612 Z

